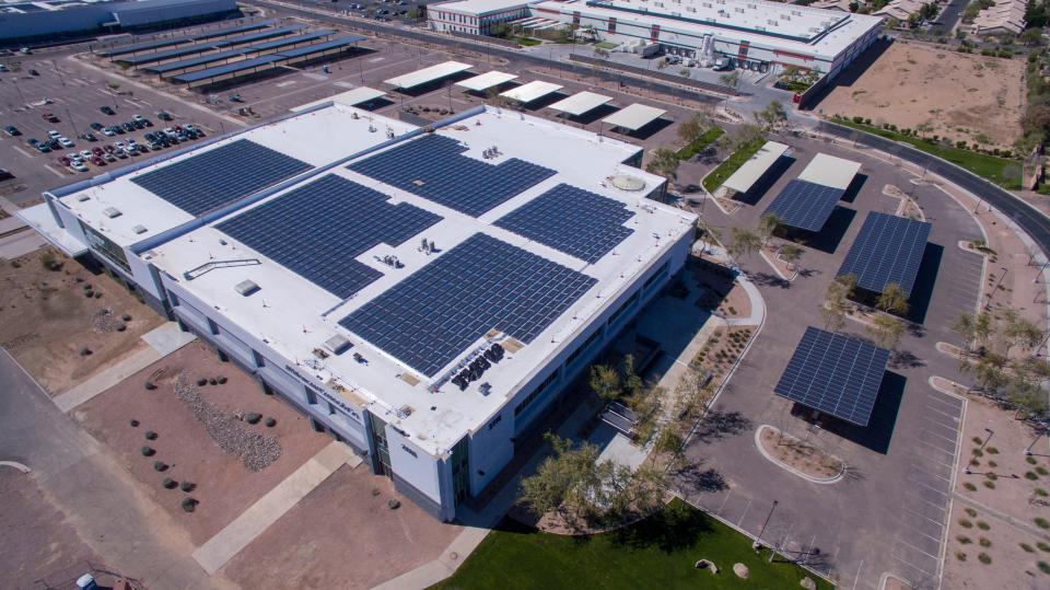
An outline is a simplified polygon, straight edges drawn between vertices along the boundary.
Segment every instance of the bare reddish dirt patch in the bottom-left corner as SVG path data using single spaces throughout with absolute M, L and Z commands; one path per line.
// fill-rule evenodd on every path
M 33 474 L 0 467 L 0 568 L 10 588 L 43 588 L 34 582 L 68 580 L 70 564 L 86 571 L 84 562 L 98 556 L 66 522 L 66 514 L 47 501 Z M 75 576 L 73 576 L 75 578 Z

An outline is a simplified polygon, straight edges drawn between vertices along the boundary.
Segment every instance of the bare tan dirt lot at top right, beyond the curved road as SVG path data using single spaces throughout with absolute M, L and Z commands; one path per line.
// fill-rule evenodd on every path
M 1010 147 L 1020 136 L 1025 63 L 894 43 L 856 78 L 850 71 L 817 108 L 874 124 L 932 126 L 928 135 Z

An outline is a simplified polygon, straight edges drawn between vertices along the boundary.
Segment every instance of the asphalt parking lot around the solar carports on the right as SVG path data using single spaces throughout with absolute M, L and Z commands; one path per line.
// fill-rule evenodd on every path
M 824 251 L 806 247 L 802 276 L 777 277 L 757 254 L 740 266 L 756 281 L 768 305 L 766 325 L 713 407 L 712 419 L 687 448 L 696 465 L 680 490 L 767 545 L 829 574 L 841 588 L 878 588 L 884 572 L 915 583 L 936 583 L 947 525 L 952 465 L 958 448 L 962 402 L 933 390 L 928 379 L 957 375 L 956 363 L 935 351 L 938 340 L 957 342 L 948 326 L 972 312 L 981 281 L 981 257 L 964 252 L 959 240 L 980 238 L 966 210 L 929 185 L 910 185 L 926 220 L 933 223 L 920 280 L 912 299 L 913 323 L 886 372 L 867 428 L 833 419 L 818 425 L 802 419 L 773 386 L 809 325 L 824 327 L 820 301 L 868 211 L 894 212 L 898 200 L 883 194 L 887 184 L 908 186 L 898 169 L 863 153 L 822 141 L 788 137 L 795 159 L 755 205 L 732 216 L 707 204 L 704 218 L 723 234 L 731 227 L 757 224 L 788 181 L 817 152 L 863 164 L 863 185 L 852 201 L 840 201 L 840 227 L 818 240 Z M 844 332 L 865 337 L 861 324 Z M 793 409 L 795 410 L 793 413 Z M 762 424 L 804 439 L 842 459 L 845 477 L 815 484 L 797 477 L 758 452 L 755 430 Z M 774 504 L 775 507 L 774 507 Z

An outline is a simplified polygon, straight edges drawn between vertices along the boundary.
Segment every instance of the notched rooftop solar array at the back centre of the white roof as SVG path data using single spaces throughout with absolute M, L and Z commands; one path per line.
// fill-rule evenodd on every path
M 516 158 L 489 164 L 465 151 L 455 139 L 429 135 L 347 167 L 474 217 L 556 174 Z

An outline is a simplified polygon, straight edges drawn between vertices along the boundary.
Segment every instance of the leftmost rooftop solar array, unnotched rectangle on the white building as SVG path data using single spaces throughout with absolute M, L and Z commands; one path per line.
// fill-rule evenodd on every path
M 147 172 L 131 182 L 200 217 L 312 166 L 247 139 Z

